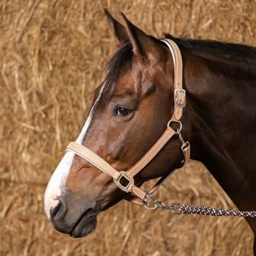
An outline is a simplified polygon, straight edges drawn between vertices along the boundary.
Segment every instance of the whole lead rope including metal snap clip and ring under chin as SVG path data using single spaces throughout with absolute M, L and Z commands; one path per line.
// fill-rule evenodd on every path
M 165 203 L 155 200 L 152 194 L 146 194 L 145 200 L 143 200 L 143 206 L 148 210 L 155 210 L 156 208 L 171 210 L 171 213 L 174 214 L 187 213 L 208 216 L 256 217 L 256 211 L 225 210 L 207 206 L 185 205 L 183 203 L 173 203 L 171 206 L 167 206 Z

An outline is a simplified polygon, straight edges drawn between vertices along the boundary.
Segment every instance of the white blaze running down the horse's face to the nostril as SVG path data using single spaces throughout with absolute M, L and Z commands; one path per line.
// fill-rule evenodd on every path
M 91 107 L 91 111 L 88 115 L 88 118 L 85 121 L 85 124 L 82 127 L 82 130 L 79 133 L 75 142 L 81 144 L 83 139 L 85 138 L 85 134 L 87 133 L 88 127 L 90 126 L 90 123 L 91 123 L 91 118 L 94 114 L 94 109 L 101 98 L 101 94 L 104 91 L 105 85 L 106 85 L 106 82 L 104 82 L 104 85 L 102 85 L 98 98 L 94 102 L 94 105 Z M 69 170 L 72 165 L 74 156 L 75 156 L 75 153 L 69 152 L 69 151 L 66 152 L 62 160 L 59 162 L 59 165 L 57 166 L 56 170 L 53 172 L 53 175 L 50 178 L 50 181 L 46 187 L 46 190 L 44 193 L 44 211 L 48 219 L 50 219 L 50 209 L 54 208 L 59 203 L 58 197 L 61 195 L 62 191 L 66 189 L 65 187 L 66 178 L 69 175 Z

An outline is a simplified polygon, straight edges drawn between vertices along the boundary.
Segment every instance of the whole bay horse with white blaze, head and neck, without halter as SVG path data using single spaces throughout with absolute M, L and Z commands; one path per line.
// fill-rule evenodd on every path
M 124 14 L 123 26 L 104 11 L 117 50 L 75 142 L 126 171 L 164 133 L 174 111 L 174 62 L 161 40 Z M 190 158 L 206 166 L 239 210 L 256 210 L 256 48 L 165 38 L 177 43 L 184 62 L 187 104 L 181 120 Z M 134 184 L 165 176 L 183 158 L 181 139 L 173 136 L 135 175 Z M 46 187 L 44 207 L 55 229 L 82 237 L 94 231 L 99 212 L 124 198 L 112 178 L 68 151 Z M 256 219 L 247 221 L 255 234 Z

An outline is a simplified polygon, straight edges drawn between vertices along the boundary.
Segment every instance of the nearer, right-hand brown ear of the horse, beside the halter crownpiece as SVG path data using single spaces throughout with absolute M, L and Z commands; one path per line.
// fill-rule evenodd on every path
M 123 12 L 120 12 L 120 15 L 125 22 L 125 27 L 130 38 L 130 42 L 133 44 L 133 52 L 142 58 L 150 59 L 150 55 L 156 56 L 156 54 L 158 54 L 158 46 L 154 40 L 140 30 L 139 27 L 133 25 L 126 18 Z

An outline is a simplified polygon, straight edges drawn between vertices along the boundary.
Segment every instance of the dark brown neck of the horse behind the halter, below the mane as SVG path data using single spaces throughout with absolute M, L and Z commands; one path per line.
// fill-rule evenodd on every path
M 205 53 L 183 56 L 191 158 L 206 166 L 238 208 L 250 209 L 253 199 L 255 208 L 255 65 Z

